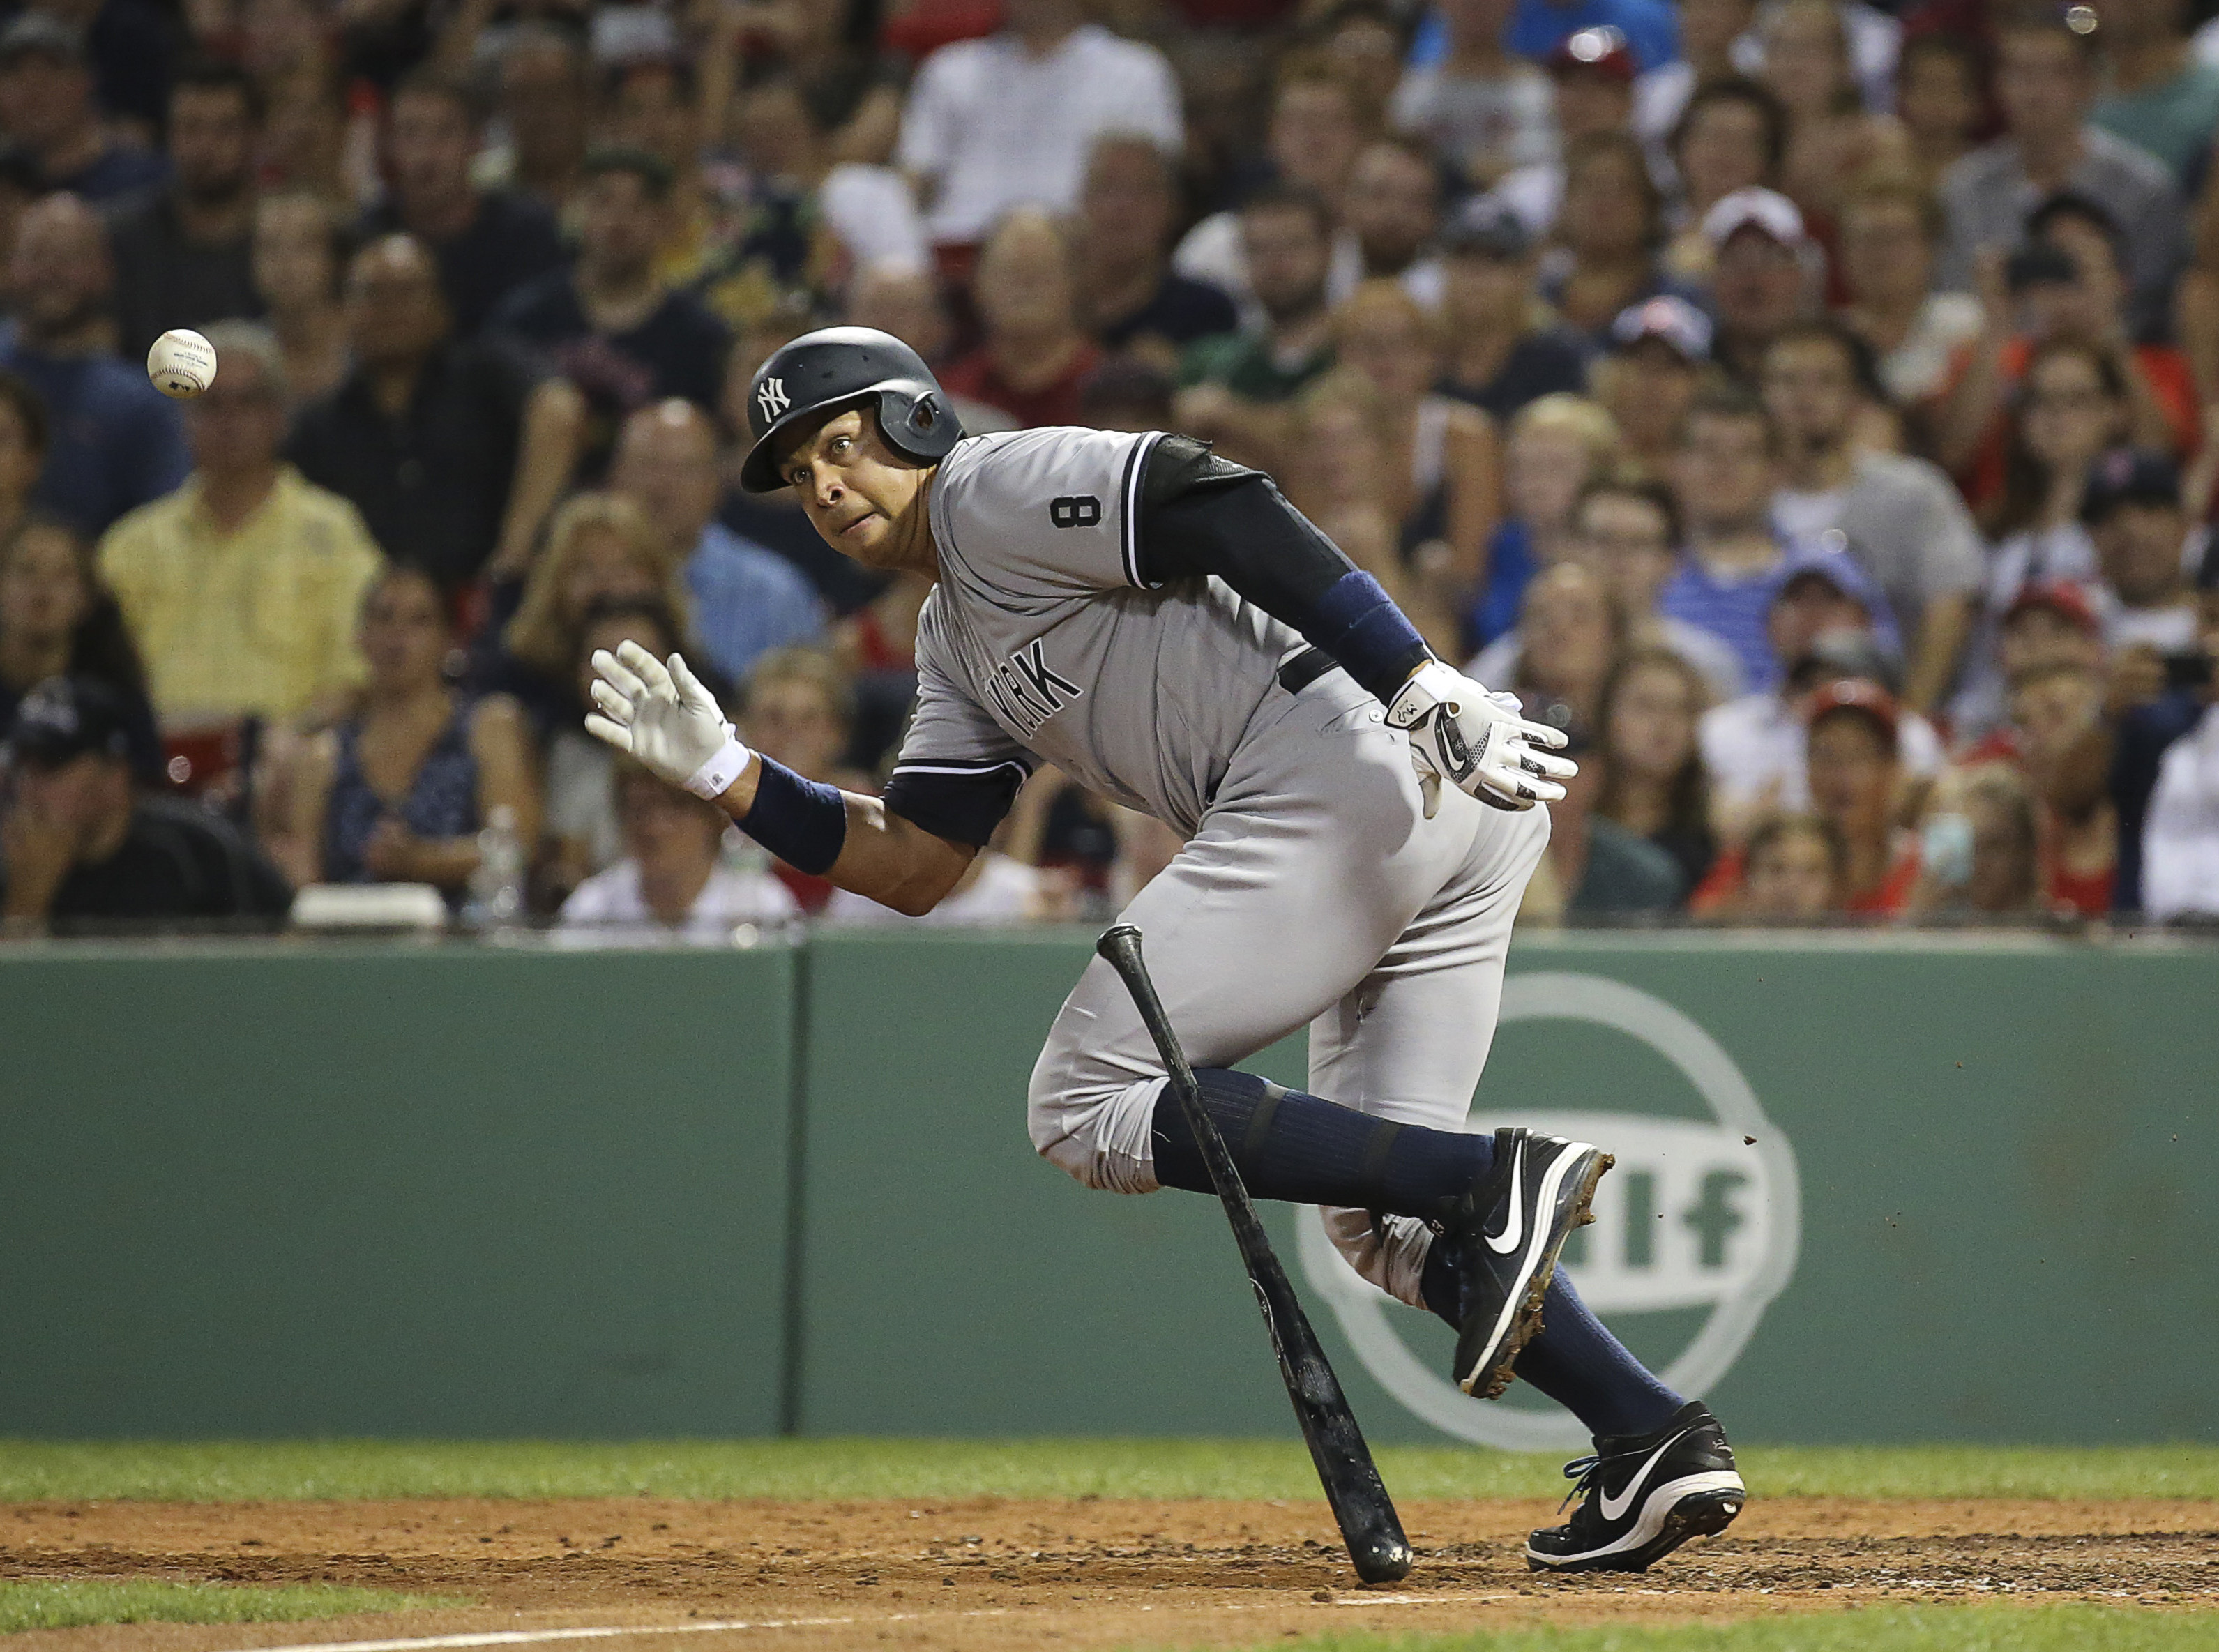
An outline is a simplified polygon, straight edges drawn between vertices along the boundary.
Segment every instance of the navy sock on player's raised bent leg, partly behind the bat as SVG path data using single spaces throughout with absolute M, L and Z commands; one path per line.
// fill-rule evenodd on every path
M 1194 1084 L 1256 1200 L 1431 1220 L 1493 1162 L 1493 1135 L 1389 1124 L 1225 1067 L 1196 1069 Z M 1163 1186 L 1214 1191 L 1203 1151 L 1169 1089 L 1156 1102 L 1152 1138 Z

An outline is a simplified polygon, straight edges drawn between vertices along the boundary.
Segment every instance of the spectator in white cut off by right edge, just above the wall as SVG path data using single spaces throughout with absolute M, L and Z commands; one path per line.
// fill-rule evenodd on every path
M 2135 883 L 2126 878 L 2126 843 L 2121 843 L 2121 905 L 2139 905 L 2157 920 L 2219 916 L 2219 694 L 2212 690 L 2212 663 L 2219 661 L 2219 596 L 2210 583 L 2203 594 L 2201 663 L 2183 672 L 2186 681 L 2168 690 L 2166 703 L 2146 707 L 2132 730 L 2121 730 L 2119 761 L 2112 785 L 2135 783 L 2135 769 L 2150 763 L 2155 776 L 2148 792 L 2148 814 L 2135 809 L 2137 865 Z M 2168 723 L 2179 727 L 2164 738 Z M 2126 809 L 2119 832 L 2128 832 Z

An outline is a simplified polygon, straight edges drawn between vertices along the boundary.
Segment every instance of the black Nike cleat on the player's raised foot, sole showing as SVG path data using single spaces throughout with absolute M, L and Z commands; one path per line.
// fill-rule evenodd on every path
M 1611 1155 L 1587 1142 L 1533 1131 L 1496 1131 L 1496 1162 L 1456 1202 L 1436 1246 L 1456 1268 L 1456 1364 L 1467 1395 L 1493 1399 L 1511 1386 L 1511 1364 L 1540 1330 L 1540 1299 L 1556 1253 L 1582 1222 Z

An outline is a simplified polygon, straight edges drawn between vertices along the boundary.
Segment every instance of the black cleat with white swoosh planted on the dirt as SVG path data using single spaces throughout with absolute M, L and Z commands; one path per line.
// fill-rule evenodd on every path
M 1536 1572 L 1646 1572 L 1691 1537 L 1718 1537 L 1749 1492 L 1733 1446 L 1700 1399 L 1653 1435 L 1595 1437 L 1595 1455 L 1564 1464 L 1584 1501 L 1562 1526 L 1527 1539 Z

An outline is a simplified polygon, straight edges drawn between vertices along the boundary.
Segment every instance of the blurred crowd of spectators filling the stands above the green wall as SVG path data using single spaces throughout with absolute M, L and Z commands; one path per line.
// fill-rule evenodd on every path
M 1533 922 L 2219 920 L 2201 22 L 4 7 L 0 918 L 894 920 L 579 730 L 597 647 L 683 647 L 877 785 L 925 588 L 734 486 L 754 366 L 848 319 L 972 432 L 1274 472 L 1571 736 Z M 1043 772 L 941 916 L 1096 916 L 1176 849 Z

